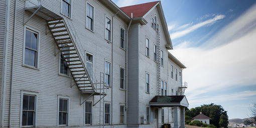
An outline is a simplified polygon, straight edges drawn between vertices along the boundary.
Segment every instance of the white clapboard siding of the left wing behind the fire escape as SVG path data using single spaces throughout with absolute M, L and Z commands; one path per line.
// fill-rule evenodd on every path
M 12 38 L 13 38 L 13 18 L 14 18 L 14 0 L 11 1 L 10 12 L 10 36 L 8 49 L 8 81 L 9 86 L 6 92 L 6 110 L 5 110 L 5 125 L 8 125 L 9 120 L 9 103 L 10 103 L 10 81 L 11 81 L 11 61 L 12 61 Z M 61 1 L 43 1 L 43 6 L 49 8 L 55 13 L 60 14 Z M 119 124 L 119 104 L 125 104 L 125 91 L 119 90 L 119 70 L 120 66 L 125 68 L 125 51 L 119 48 L 120 27 L 126 30 L 127 25 L 119 17 L 113 17 L 113 41 L 107 42 L 104 39 L 105 16 L 112 18 L 116 12 L 110 11 L 99 1 L 90 0 L 94 9 L 94 32 L 85 28 L 85 1 L 72 2 L 72 21 L 68 22 L 74 25 L 78 34 L 80 43 L 76 44 L 79 47 L 79 53 L 85 56 L 85 52 L 93 54 L 93 72 L 94 77 L 100 80 L 100 72 L 104 72 L 105 60 L 111 62 L 112 68 L 112 87 L 106 89 L 107 96 L 104 102 L 111 103 L 112 123 Z M 82 3 L 82 4 L 81 4 Z M 53 7 L 54 4 L 54 7 Z M 1 6 L 2 7 L 2 6 Z M 14 61 L 14 79 L 13 79 L 13 101 L 12 101 L 12 126 L 20 126 L 20 108 L 21 108 L 21 90 L 38 92 L 37 102 L 37 126 L 55 127 L 57 126 L 57 98 L 58 95 L 69 97 L 69 125 L 83 126 L 84 125 L 84 104 L 80 105 L 80 99 L 86 99 L 89 95 L 80 94 L 76 86 L 70 88 L 74 84 L 73 79 L 59 75 L 59 51 L 55 49 L 55 41 L 46 28 L 46 21 L 39 16 L 33 16 L 26 26 L 38 30 L 41 33 L 40 37 L 40 62 L 39 69 L 31 69 L 24 67 L 23 63 L 23 41 L 24 41 L 24 26 L 26 21 L 32 14 L 24 13 L 24 1 L 17 3 L 17 23 L 16 23 L 16 43 L 15 43 L 15 61 Z M 105 13 L 102 13 L 105 12 Z M 2 16 L 2 15 L 1 15 Z M 2 20 L 2 19 L 1 19 Z M 1 46 L 1 44 L 0 44 Z M 112 58 L 113 47 L 113 58 Z M 57 54 L 55 54 L 57 53 Z M 85 59 L 85 58 L 83 58 Z M 103 79 L 102 79 L 103 80 Z M 99 88 L 99 86 L 98 86 Z M 112 91 L 112 93 L 111 93 Z M 94 97 L 94 103 L 99 99 L 99 96 Z M 89 101 L 92 101 L 91 97 Z M 99 105 L 101 103 L 101 109 Z M 97 103 L 92 109 L 92 124 L 99 124 L 99 111 L 101 111 L 101 124 L 103 123 L 103 100 Z M 126 115 L 126 113 L 125 113 Z M 124 125 L 119 125 L 124 126 Z M 115 126 L 116 127 L 116 126 Z

